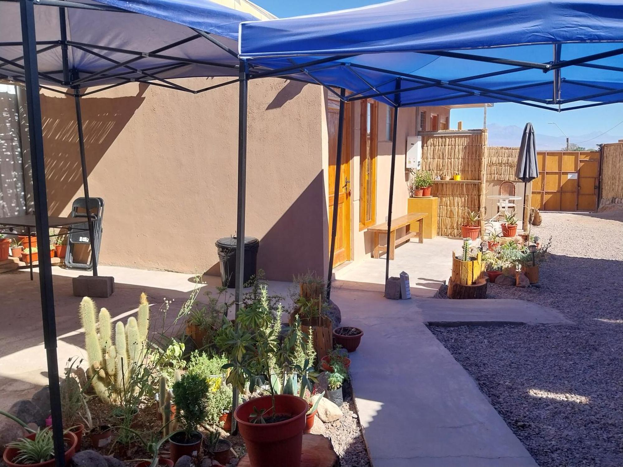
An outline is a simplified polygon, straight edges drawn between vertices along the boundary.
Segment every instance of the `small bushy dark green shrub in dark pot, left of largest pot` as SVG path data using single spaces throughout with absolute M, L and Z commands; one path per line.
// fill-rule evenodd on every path
M 199 425 L 206 419 L 206 395 L 210 387 L 205 379 L 197 374 L 183 374 L 173 384 L 178 420 L 184 427 L 169 438 L 171 443 L 171 460 L 176 463 L 181 456 L 197 456 L 201 453 L 203 435 L 198 431 Z

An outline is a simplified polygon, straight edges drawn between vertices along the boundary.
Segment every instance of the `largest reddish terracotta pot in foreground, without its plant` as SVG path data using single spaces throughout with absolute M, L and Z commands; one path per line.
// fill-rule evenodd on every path
M 253 467 L 300 467 L 303 448 L 305 413 L 309 405 L 300 397 L 275 395 L 275 413 L 292 418 L 276 423 L 251 423 L 249 415 L 254 408 L 265 409 L 265 418 L 272 415 L 270 396 L 258 397 L 239 405 L 234 412 L 240 435 L 247 446 Z

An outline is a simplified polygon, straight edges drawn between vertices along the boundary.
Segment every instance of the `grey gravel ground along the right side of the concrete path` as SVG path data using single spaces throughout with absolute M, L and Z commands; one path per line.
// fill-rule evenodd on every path
M 490 298 L 558 309 L 573 326 L 431 328 L 541 467 L 623 466 L 623 210 L 543 214 L 540 288 Z

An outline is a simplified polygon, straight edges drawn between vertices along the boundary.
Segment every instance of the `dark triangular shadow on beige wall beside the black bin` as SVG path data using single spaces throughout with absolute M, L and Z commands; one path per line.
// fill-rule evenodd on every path
M 325 274 L 325 227 L 328 225 L 325 197 L 324 174 L 318 172 L 312 182 L 303 190 L 288 210 L 275 222 L 270 230 L 260 237 L 257 253 L 257 268 L 263 269 L 267 279 L 292 281 L 293 275 L 316 271 Z M 254 203 L 253 197 L 259 194 L 247 192 L 247 226 L 245 234 L 254 237 L 250 227 L 249 212 Z M 257 208 L 255 208 L 257 209 Z M 257 214 L 256 214 L 257 215 Z M 216 246 L 214 247 L 216 248 Z M 221 275 L 220 265 L 216 263 L 207 275 Z

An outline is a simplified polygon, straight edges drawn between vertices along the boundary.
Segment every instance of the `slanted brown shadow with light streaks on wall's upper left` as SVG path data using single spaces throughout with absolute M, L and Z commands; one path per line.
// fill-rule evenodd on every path
M 147 85 L 141 84 L 133 97 L 82 99 L 87 175 L 141 106 L 146 89 Z M 74 196 L 83 196 L 75 101 L 69 96 L 42 94 L 41 110 L 48 210 L 50 215 L 60 215 Z

